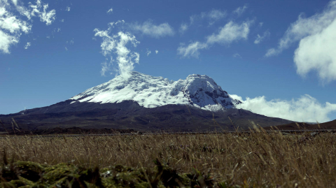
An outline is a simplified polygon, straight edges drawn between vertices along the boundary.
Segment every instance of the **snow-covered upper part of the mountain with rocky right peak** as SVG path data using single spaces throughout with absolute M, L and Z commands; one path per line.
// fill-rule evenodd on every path
M 167 104 L 192 105 L 204 110 L 218 111 L 232 108 L 240 101 L 232 99 L 227 92 L 207 75 L 189 75 L 186 80 L 172 81 L 139 72 L 132 72 L 125 80 L 117 76 L 109 82 L 87 89 L 73 96 L 75 102 L 120 103 L 132 100 L 145 108 Z

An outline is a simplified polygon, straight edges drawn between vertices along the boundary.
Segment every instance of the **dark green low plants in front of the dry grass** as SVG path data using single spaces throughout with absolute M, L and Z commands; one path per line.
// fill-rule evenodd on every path
M 209 175 L 197 171 L 177 173 L 155 160 L 155 168 L 83 168 L 73 164 L 41 165 L 31 161 L 3 163 L 0 187 L 214 187 Z M 226 187 L 225 183 L 218 187 Z

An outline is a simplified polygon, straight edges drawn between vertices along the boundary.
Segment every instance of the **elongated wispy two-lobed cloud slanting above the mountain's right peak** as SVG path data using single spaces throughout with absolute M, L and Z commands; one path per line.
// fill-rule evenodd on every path
M 181 43 L 177 49 L 177 53 L 182 57 L 196 57 L 200 55 L 200 50 L 210 48 L 216 43 L 220 45 L 230 45 L 230 43 L 239 40 L 246 40 L 250 31 L 250 26 L 253 21 L 242 22 L 237 24 L 235 22 L 228 22 L 224 27 L 219 28 L 218 33 L 207 36 L 207 41 L 201 43 L 195 41 L 189 45 Z

